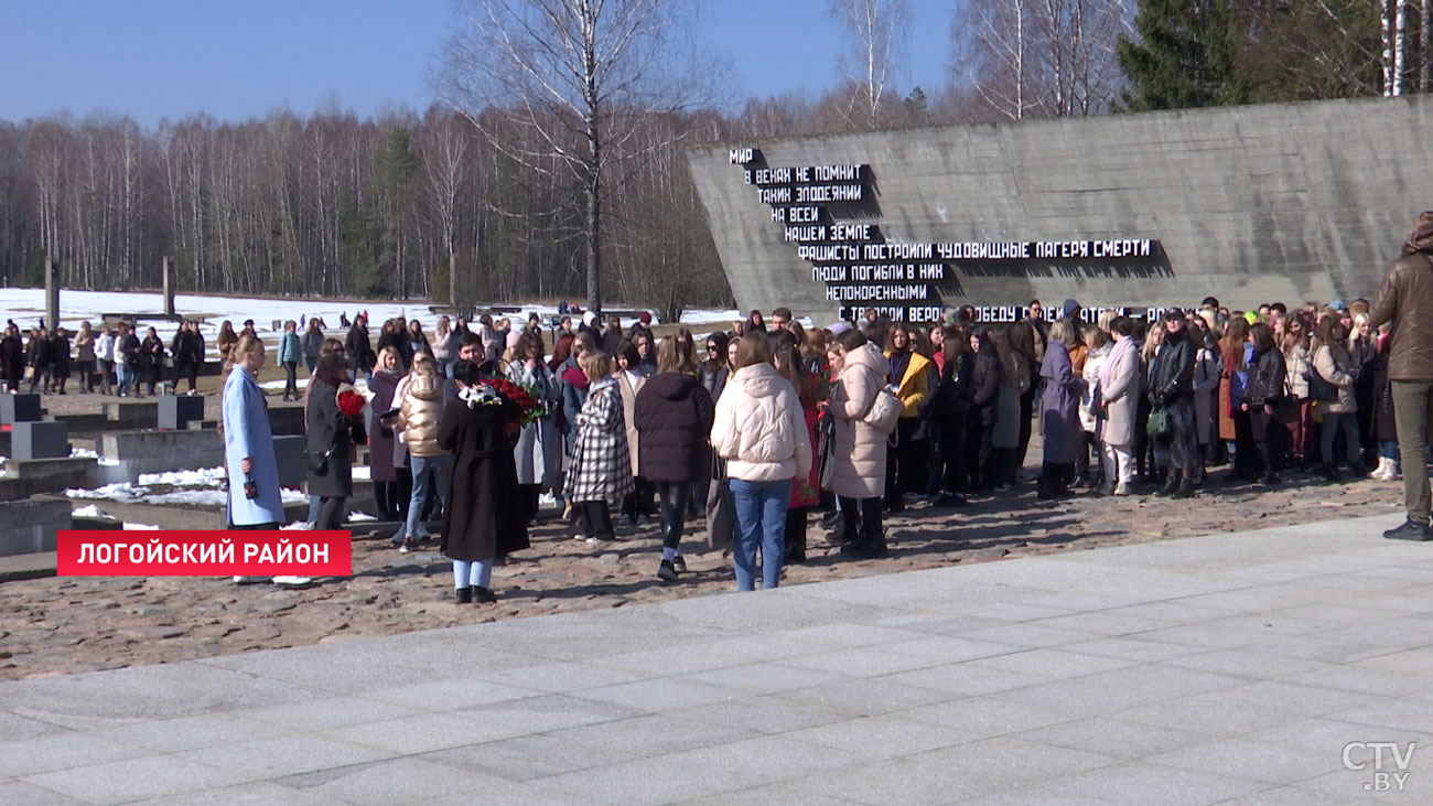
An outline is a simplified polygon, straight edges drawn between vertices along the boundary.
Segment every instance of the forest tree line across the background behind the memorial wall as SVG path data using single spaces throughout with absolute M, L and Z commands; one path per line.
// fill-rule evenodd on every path
M 600 219 L 563 163 L 580 138 L 553 141 L 570 120 L 530 98 L 150 128 L 112 113 L 0 122 L 0 283 L 43 283 L 49 255 L 72 288 L 156 288 L 171 255 L 183 291 L 577 301 L 599 221 L 602 297 L 674 316 L 731 303 L 688 143 L 1429 92 L 1430 6 L 966 1 L 952 11 L 949 85 L 926 90 L 900 86 L 904 0 L 831 0 L 850 52 L 828 92 L 603 106 L 593 129 L 620 136 L 602 141 Z

